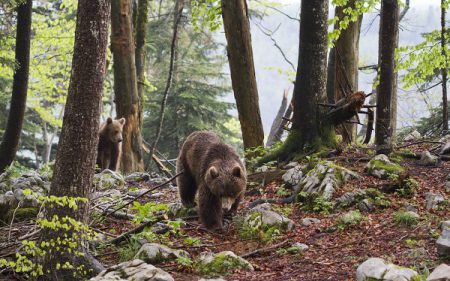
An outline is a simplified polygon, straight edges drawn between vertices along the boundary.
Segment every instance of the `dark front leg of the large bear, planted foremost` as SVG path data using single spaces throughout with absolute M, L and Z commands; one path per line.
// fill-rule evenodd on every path
M 200 221 L 209 230 L 221 230 L 223 211 L 220 199 L 203 186 L 198 194 L 198 213 Z

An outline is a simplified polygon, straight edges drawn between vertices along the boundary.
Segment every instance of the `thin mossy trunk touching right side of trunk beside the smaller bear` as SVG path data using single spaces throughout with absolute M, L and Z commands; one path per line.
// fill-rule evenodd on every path
M 145 39 L 147 37 L 148 1 L 138 0 L 136 19 L 136 77 L 139 96 L 139 127 L 142 129 L 145 82 Z

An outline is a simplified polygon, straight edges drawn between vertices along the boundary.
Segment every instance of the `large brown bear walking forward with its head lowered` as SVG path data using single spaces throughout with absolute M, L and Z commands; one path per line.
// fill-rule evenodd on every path
M 212 132 L 194 132 L 178 156 L 177 173 L 181 171 L 177 185 L 183 205 L 192 207 L 197 201 L 202 224 L 221 230 L 223 210 L 235 213 L 247 186 L 236 151 Z

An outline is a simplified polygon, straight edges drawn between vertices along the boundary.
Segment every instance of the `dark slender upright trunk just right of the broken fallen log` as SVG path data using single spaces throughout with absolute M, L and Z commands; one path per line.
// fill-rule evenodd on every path
M 377 153 L 390 153 L 393 146 L 396 76 L 395 49 L 398 45 L 399 5 L 397 0 L 381 1 L 375 143 Z

